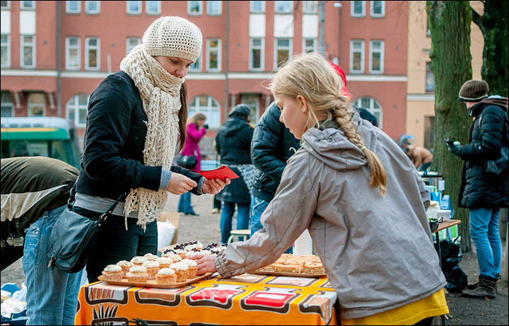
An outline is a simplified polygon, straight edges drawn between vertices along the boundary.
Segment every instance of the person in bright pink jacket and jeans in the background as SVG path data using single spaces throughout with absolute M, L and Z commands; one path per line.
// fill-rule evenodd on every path
M 184 145 L 184 149 L 182 149 L 182 155 L 184 156 L 194 156 L 197 159 L 197 165 L 194 168 L 190 169 L 193 172 L 198 172 L 201 170 L 201 154 L 199 151 L 199 141 L 201 137 L 204 136 L 206 129 L 208 126 L 205 124 L 206 116 L 203 113 L 197 113 L 189 118 L 189 122 L 187 123 L 187 137 Z M 186 215 L 198 216 L 194 212 L 194 209 L 191 205 L 191 193 L 185 192 L 180 195 L 179 204 L 177 211 L 180 211 Z

